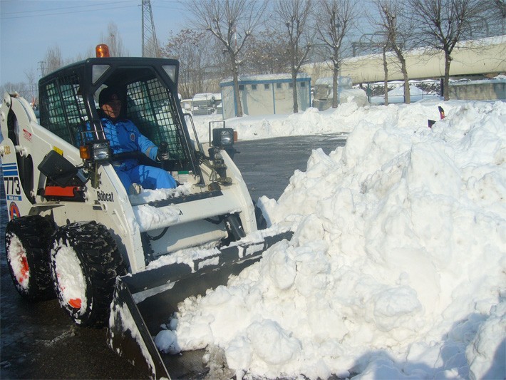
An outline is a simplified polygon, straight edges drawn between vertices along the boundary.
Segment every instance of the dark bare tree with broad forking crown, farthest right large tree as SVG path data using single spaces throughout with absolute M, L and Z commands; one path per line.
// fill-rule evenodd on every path
M 473 20 L 480 19 L 485 2 L 482 0 L 408 0 L 418 22 L 421 42 L 445 54 L 443 97 L 448 101 L 450 63 L 455 45 L 473 35 Z

